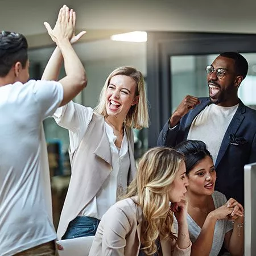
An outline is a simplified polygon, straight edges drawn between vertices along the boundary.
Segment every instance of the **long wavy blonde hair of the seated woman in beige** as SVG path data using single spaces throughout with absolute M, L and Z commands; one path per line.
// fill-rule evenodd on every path
M 156 253 L 155 240 L 177 240 L 172 230 L 173 214 L 168 192 L 179 171 L 183 155 L 173 148 L 155 147 L 148 150 L 139 162 L 137 177 L 125 196 L 133 197 L 142 208 L 141 242 L 144 253 Z

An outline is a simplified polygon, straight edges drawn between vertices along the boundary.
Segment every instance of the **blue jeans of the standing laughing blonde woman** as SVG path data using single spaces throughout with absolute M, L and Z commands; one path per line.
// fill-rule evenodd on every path
M 97 218 L 77 216 L 69 222 L 67 231 L 61 239 L 95 236 L 99 223 L 100 220 Z

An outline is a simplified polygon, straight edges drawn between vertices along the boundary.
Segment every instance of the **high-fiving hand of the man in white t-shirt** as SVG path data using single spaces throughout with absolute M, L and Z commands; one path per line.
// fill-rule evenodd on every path
M 48 22 L 44 22 L 44 26 L 46 26 L 49 36 L 51 36 L 55 43 L 58 43 L 59 40 L 64 38 L 71 40 L 74 34 L 73 24 L 73 10 L 69 12 L 69 8 L 66 5 L 61 7 L 53 30 Z

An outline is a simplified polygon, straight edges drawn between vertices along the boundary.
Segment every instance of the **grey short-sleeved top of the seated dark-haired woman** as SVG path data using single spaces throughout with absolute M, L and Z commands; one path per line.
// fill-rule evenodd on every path
M 212 194 L 212 199 L 214 202 L 215 209 L 221 207 L 226 203 L 226 197 L 221 192 L 214 191 Z M 196 222 L 193 220 L 189 214 L 187 214 L 187 221 L 188 221 L 188 232 L 189 232 L 189 238 L 192 243 L 194 243 L 197 240 L 197 237 L 201 233 L 201 228 L 199 225 L 196 224 Z M 174 226 L 175 229 L 177 228 L 177 220 L 174 217 Z M 230 230 L 233 229 L 233 223 L 230 220 L 218 220 L 216 222 L 215 228 L 214 228 L 214 236 L 213 236 L 213 242 L 212 242 L 212 250 L 210 250 L 209 256 L 217 256 L 218 253 L 220 253 L 222 244 L 224 242 L 225 234 L 228 233 Z

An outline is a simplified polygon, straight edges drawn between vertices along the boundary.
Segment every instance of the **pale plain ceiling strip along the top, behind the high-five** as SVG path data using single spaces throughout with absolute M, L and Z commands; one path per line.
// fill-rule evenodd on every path
M 64 3 L 85 30 L 256 32 L 253 0 L 1 0 L 1 29 L 42 34 Z

